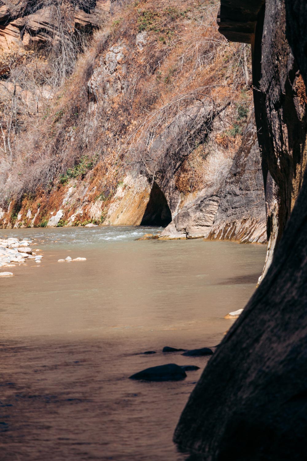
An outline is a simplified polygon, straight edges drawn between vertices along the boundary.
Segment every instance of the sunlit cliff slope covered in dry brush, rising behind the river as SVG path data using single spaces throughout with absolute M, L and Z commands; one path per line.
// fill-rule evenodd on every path
M 21 129 L 1 164 L 2 226 L 171 221 L 161 238 L 266 241 L 260 155 L 248 154 L 250 51 L 220 39 L 217 6 L 118 7 L 64 87 L 44 79 L 51 97 L 40 99 L 38 87 L 30 96 L 18 80 Z

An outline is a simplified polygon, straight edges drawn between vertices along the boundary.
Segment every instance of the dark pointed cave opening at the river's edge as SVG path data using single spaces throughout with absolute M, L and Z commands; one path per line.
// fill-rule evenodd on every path
M 153 183 L 141 226 L 150 225 L 166 227 L 170 222 L 171 210 L 167 204 L 165 195 L 158 184 Z

